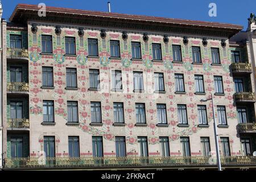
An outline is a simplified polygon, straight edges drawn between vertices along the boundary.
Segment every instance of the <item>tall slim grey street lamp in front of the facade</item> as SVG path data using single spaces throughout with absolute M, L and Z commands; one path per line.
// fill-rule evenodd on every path
M 221 169 L 221 160 L 220 160 L 220 150 L 218 146 L 218 132 L 217 132 L 217 125 L 215 120 L 215 111 L 214 111 L 214 104 L 213 104 L 213 97 L 212 93 L 210 93 L 211 98 L 208 98 L 207 100 L 200 100 L 201 102 L 207 102 L 209 100 L 212 100 L 212 112 L 213 112 L 213 128 L 214 128 L 214 139 L 215 139 L 215 147 L 216 147 L 216 154 L 217 154 L 217 165 L 218 165 L 218 171 L 222 171 Z

